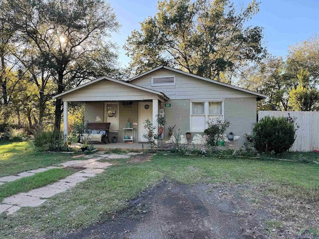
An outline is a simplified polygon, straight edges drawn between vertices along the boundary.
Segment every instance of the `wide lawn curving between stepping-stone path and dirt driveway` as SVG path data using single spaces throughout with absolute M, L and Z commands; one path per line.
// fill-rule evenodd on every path
M 249 185 L 252 200 L 263 197 L 302 201 L 318 207 L 319 165 L 245 158 L 191 157 L 157 154 L 142 163 L 118 164 L 89 178 L 37 208 L 22 208 L 0 218 L 0 238 L 43 237 L 52 232 L 84 229 L 125 209 L 141 191 L 170 180 L 188 185 Z M 243 194 L 249 192 L 243 191 Z M 319 207 L 318 207 L 319 208 Z M 316 208 L 313 208 L 316 210 Z M 316 216 L 316 215 L 315 215 Z M 27 230 L 25 229 L 27 225 Z M 312 228 L 318 230 L 318 226 Z M 24 231 L 21 233 L 21 231 Z

